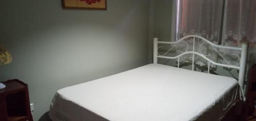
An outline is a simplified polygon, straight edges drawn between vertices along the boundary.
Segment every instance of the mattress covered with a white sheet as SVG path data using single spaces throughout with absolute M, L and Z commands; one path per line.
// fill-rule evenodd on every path
M 242 100 L 235 79 L 148 64 L 56 92 L 52 120 L 220 120 Z

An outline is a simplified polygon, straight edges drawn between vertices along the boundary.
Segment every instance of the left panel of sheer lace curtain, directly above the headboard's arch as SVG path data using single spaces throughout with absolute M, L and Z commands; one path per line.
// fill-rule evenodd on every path
M 195 34 L 220 41 L 223 1 L 178 0 L 178 5 L 176 39 Z

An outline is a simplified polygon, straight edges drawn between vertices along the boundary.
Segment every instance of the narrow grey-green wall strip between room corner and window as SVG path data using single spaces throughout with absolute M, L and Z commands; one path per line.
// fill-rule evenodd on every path
M 153 38 L 170 41 L 172 33 L 173 1 L 150 0 L 150 27 L 148 39 L 148 63 L 153 62 Z

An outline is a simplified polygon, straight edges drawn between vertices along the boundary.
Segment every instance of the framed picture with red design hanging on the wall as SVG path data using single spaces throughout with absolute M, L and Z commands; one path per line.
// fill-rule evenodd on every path
M 62 0 L 62 7 L 67 9 L 106 10 L 106 0 Z

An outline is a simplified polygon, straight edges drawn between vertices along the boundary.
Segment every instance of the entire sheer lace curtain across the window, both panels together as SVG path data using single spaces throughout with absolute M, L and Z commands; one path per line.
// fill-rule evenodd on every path
M 215 43 L 256 44 L 255 0 L 177 0 L 176 39 L 189 34 Z

